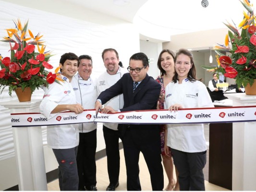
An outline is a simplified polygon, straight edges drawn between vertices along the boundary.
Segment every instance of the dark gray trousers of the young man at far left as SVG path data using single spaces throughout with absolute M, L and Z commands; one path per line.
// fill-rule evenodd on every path
M 59 163 L 59 185 L 61 191 L 78 191 L 76 165 L 77 146 L 70 149 L 52 149 Z

